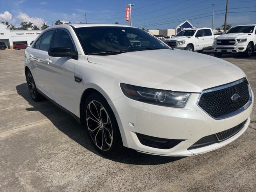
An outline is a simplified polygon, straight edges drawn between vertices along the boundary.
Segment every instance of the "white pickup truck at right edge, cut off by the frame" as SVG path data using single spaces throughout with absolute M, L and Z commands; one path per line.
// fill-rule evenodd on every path
M 226 53 L 244 53 L 252 56 L 256 50 L 256 24 L 231 27 L 225 34 L 214 39 L 212 50 L 217 57 Z

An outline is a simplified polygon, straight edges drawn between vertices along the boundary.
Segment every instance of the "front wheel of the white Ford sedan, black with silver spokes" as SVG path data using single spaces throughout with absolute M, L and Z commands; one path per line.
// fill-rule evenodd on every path
M 124 148 L 114 112 L 97 93 L 84 102 L 84 125 L 94 148 L 103 156 L 114 157 Z

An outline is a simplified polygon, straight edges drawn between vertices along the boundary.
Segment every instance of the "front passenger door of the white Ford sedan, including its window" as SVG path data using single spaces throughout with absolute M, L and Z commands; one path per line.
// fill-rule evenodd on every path
M 76 52 L 74 41 L 66 29 L 56 30 L 55 37 L 52 42 L 52 48 L 63 47 L 71 48 Z M 54 96 L 55 101 L 73 112 L 71 108 L 74 102 L 74 66 L 76 58 L 69 57 L 52 57 L 47 53 L 46 63 L 48 67 L 46 78 L 50 79 L 47 91 Z

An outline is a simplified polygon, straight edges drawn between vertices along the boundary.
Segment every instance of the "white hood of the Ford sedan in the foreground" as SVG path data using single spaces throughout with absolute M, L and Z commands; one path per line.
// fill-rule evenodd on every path
M 182 92 L 202 92 L 245 76 L 235 65 L 184 50 L 146 50 L 110 56 L 87 56 L 122 83 Z

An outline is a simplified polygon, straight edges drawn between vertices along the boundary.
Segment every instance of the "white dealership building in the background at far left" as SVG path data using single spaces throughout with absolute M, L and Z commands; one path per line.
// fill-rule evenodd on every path
M 0 45 L 13 48 L 16 43 L 30 44 L 43 30 L 10 30 L 6 24 L 0 22 Z

